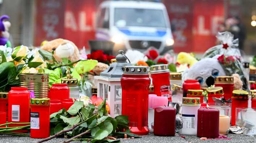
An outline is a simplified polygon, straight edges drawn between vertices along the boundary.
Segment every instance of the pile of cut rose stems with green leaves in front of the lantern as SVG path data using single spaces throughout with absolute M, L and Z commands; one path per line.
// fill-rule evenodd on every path
M 120 142 L 120 140 L 106 139 L 108 136 L 124 137 L 127 134 L 130 137 L 140 137 L 136 134 L 129 133 L 128 116 L 120 115 L 115 118 L 107 116 L 106 100 L 98 106 L 89 104 L 83 107 L 83 102 L 75 101 L 68 111 L 62 109 L 50 115 L 50 134 L 54 135 L 61 130 L 74 128 L 65 132 L 65 137 L 74 137 L 80 133 L 88 132 L 79 139 L 91 143 L 101 142 Z M 78 125 L 73 127 L 73 125 Z M 126 132 L 119 132 L 125 130 Z

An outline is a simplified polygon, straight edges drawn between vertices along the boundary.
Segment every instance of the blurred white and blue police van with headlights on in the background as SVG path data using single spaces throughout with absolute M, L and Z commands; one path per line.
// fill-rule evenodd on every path
M 159 2 L 104 1 L 96 21 L 96 40 L 114 42 L 114 53 L 149 47 L 163 53 L 174 44 L 166 7 Z

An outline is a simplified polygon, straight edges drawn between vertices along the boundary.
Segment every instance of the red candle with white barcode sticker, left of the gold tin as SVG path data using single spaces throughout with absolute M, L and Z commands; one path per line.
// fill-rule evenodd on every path
M 11 87 L 8 93 L 8 123 L 29 123 L 29 100 L 30 92 L 26 87 Z M 8 125 L 25 126 L 22 125 Z M 28 130 L 13 131 L 18 133 L 27 133 Z

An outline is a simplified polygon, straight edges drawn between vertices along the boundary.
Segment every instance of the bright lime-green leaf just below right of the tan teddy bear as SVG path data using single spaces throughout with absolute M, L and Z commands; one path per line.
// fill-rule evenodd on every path
M 92 70 L 97 64 L 98 64 L 97 60 L 79 61 L 76 64 L 75 69 L 78 74 L 83 74 Z

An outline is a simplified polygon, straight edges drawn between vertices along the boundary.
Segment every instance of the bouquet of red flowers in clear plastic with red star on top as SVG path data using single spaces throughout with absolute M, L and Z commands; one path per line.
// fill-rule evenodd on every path
M 243 69 L 242 56 L 238 49 L 238 39 L 230 32 L 218 32 L 217 36 L 220 45 L 208 49 L 203 57 L 217 58 L 227 76 L 239 74 L 243 82 L 243 89 L 248 90 L 248 81 Z

